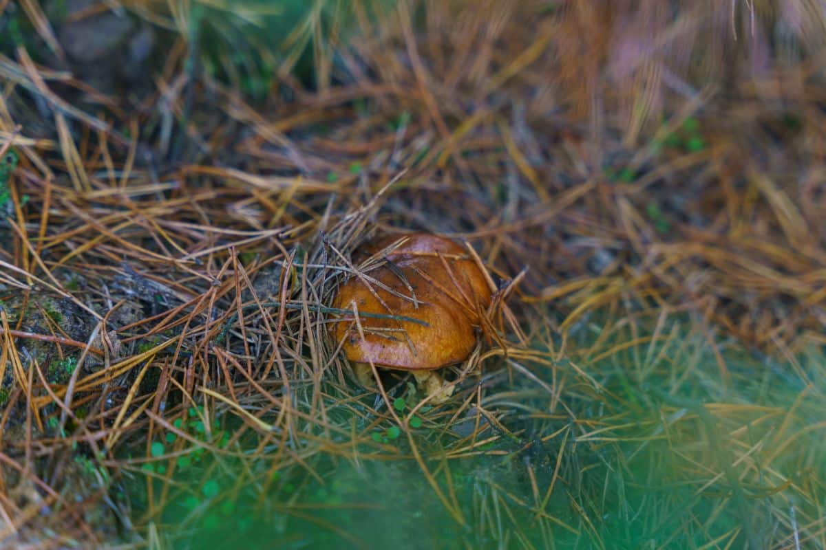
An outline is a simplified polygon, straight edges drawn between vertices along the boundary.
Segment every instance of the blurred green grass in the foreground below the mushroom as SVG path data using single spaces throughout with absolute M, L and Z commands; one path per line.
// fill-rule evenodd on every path
M 463 525 L 393 421 L 372 431 L 381 450 L 354 444 L 347 457 L 315 454 L 306 467 L 276 472 L 263 492 L 237 481 L 248 462 L 206 454 L 175 473 L 163 523 L 183 525 L 182 543 L 192 548 L 703 548 L 715 539 L 719 548 L 743 548 L 788 540 L 791 507 L 802 525 L 826 504 L 800 491 L 826 479 L 817 459 L 826 453 L 824 395 L 801 378 L 823 377 L 826 357 L 813 347 L 796 366 L 773 364 L 718 341 L 718 359 L 700 327 L 686 327 L 690 320 L 675 319 L 653 343 L 643 336 L 626 346 L 629 327 L 583 324 L 568 357 L 586 375 L 571 363 L 523 362 L 547 387 L 565 381 L 550 408 L 547 391 L 524 377 L 509 388 L 502 372 L 482 402 L 501 423 L 482 418 L 475 438 L 486 444 L 469 444 L 466 419 L 450 423 L 439 407 L 421 413 L 411 435 L 439 487 L 455 492 Z M 392 408 L 415 403 L 408 394 Z M 250 436 L 235 449 L 260 444 Z M 156 445 L 164 450 L 155 443 L 154 455 Z M 260 477 L 268 464 L 252 468 Z M 142 496 L 143 484 L 136 487 Z

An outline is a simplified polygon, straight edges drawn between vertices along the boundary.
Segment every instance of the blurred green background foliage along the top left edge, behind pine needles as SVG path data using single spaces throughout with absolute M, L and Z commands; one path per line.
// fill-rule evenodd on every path
M 359 24 L 376 25 L 392 9 L 393 0 L 152 0 L 95 2 L 48 0 L 7 2 L 0 16 L 0 51 L 12 54 L 25 48 L 38 62 L 87 58 L 89 43 L 101 49 L 118 49 L 134 34 L 134 27 L 149 24 L 152 52 L 147 58 L 157 72 L 164 51 L 175 36 L 185 40 L 191 57 L 186 70 L 204 71 L 251 100 L 261 101 L 271 92 L 277 75 L 296 78 L 308 88 L 327 88 L 333 82 L 336 50 L 351 40 Z M 112 12 L 88 27 L 94 37 L 80 38 L 61 31 L 95 12 Z M 113 16 L 114 15 L 114 16 Z M 358 21 L 356 17 L 358 16 Z M 122 22 L 128 19 L 128 23 Z M 118 22 L 120 21 L 120 22 Z M 67 42 L 81 40 L 80 45 Z M 68 47 L 67 47 L 68 46 Z M 94 52 L 93 52 L 94 53 Z M 101 52 L 102 54 L 103 52 Z

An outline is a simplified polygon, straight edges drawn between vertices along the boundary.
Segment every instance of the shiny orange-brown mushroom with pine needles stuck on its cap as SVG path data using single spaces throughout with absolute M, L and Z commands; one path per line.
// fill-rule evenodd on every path
M 332 323 L 356 378 L 372 386 L 371 363 L 410 370 L 431 401 L 446 401 L 455 384 L 436 369 L 461 363 L 476 347 L 475 327 L 491 304 L 487 275 L 466 249 L 427 233 L 385 237 L 362 251 L 383 256 L 382 265 L 344 282 L 333 300 L 358 312 Z

